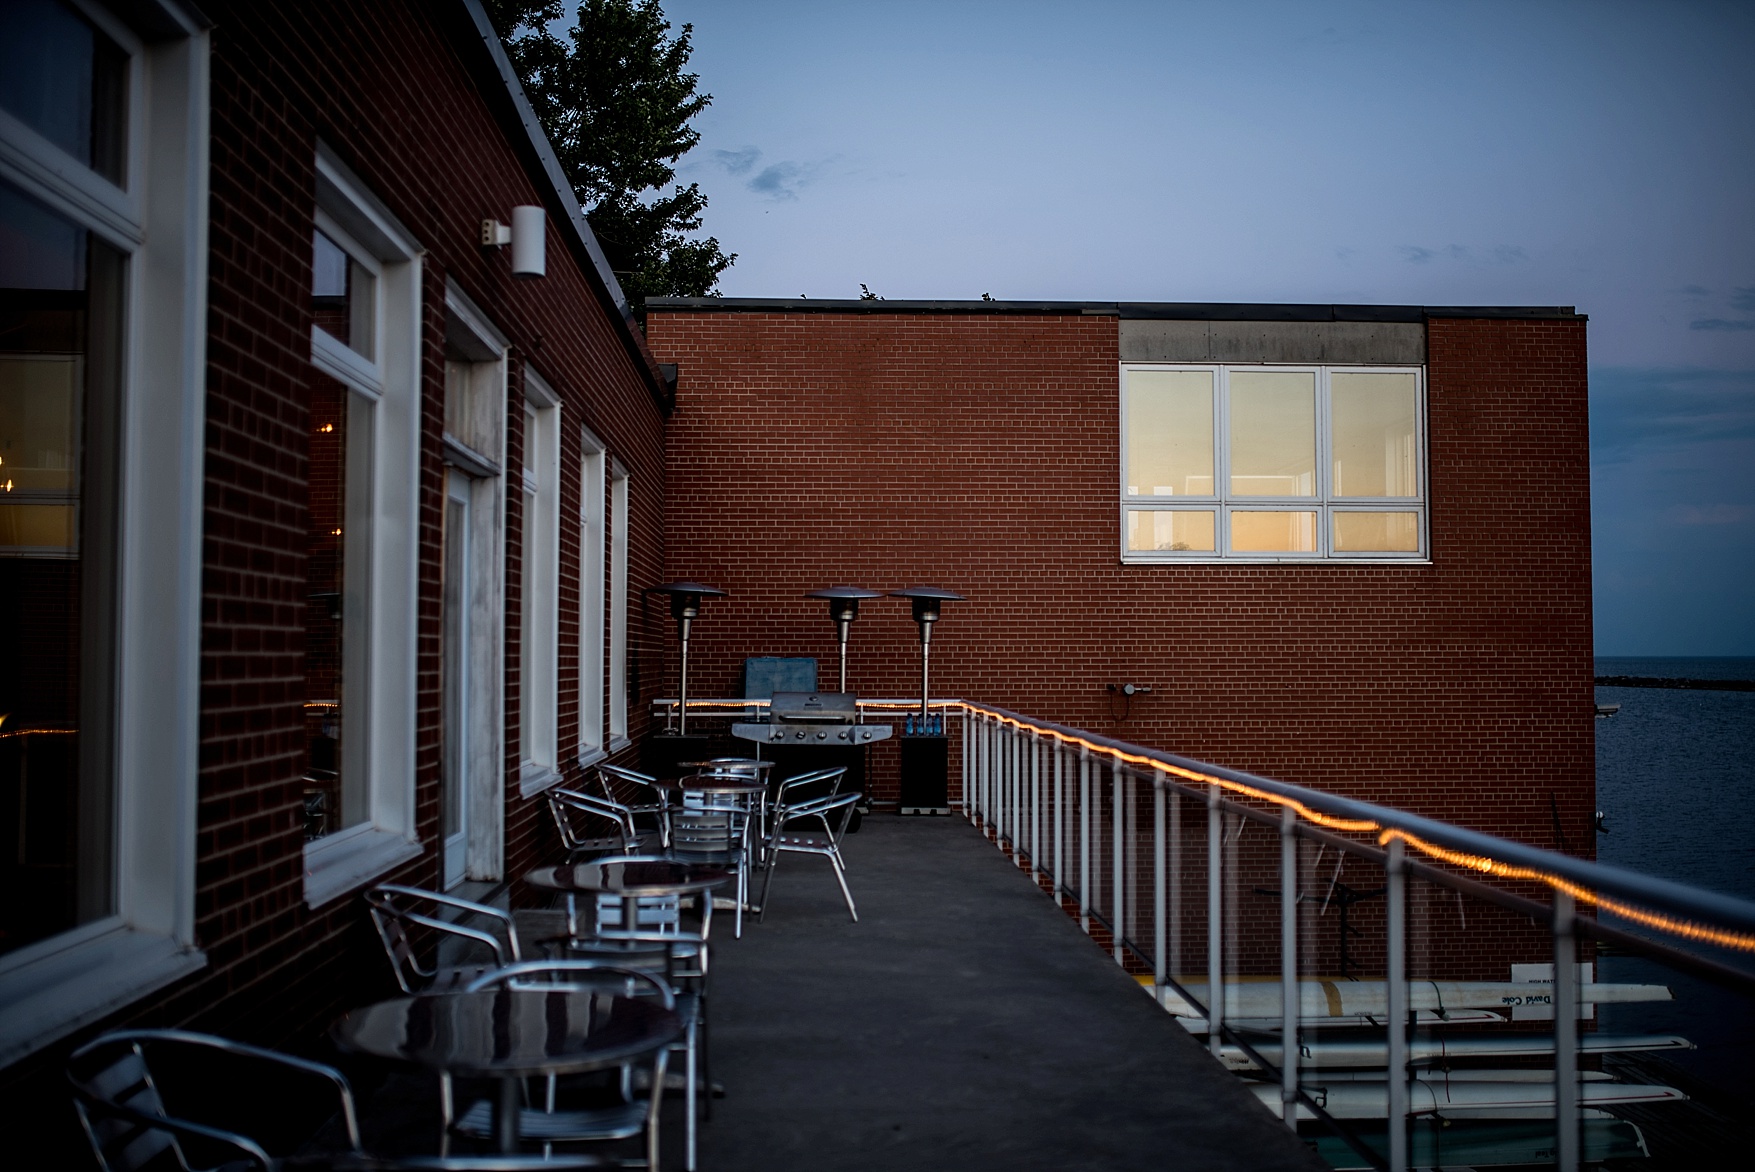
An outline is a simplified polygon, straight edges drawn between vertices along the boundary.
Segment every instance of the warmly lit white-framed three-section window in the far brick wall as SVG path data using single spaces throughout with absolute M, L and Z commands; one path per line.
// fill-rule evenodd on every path
M 1123 367 L 1123 560 L 1425 558 L 1420 375 Z

